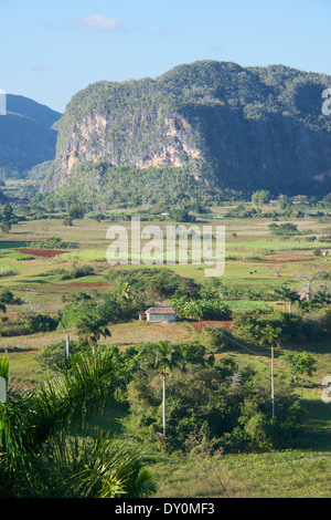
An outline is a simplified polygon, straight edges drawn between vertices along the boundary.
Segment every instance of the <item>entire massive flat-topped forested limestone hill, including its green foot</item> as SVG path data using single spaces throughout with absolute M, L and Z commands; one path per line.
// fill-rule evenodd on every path
M 302 194 L 324 196 L 329 180 L 313 178 L 330 162 L 320 153 L 328 149 L 330 122 L 321 117 L 320 96 L 329 83 L 325 75 L 282 65 L 247 69 L 211 60 L 156 80 L 97 82 L 68 103 L 44 188 L 108 207 L 166 202 L 185 210 L 234 193 L 242 200 L 257 190 L 297 195 L 299 184 Z M 81 125 L 87 118 L 93 129 L 86 137 Z M 67 176 L 67 150 L 77 139 L 85 153 Z M 293 142 L 302 154 L 292 153 Z M 92 155 L 94 164 L 86 160 Z

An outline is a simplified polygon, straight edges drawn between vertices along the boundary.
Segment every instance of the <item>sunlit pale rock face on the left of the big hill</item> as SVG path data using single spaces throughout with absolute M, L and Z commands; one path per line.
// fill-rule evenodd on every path
M 108 97 L 97 110 L 81 117 L 72 116 L 71 106 L 61 125 L 57 154 L 44 189 L 56 189 L 71 176 L 76 165 L 107 162 L 113 166 L 180 167 L 191 159 L 199 159 L 201 150 L 195 144 L 196 132 L 189 121 L 164 101 L 152 100 L 158 93 L 151 83 L 146 89 L 142 82 L 134 85 L 134 96 L 122 104 Z M 98 89 L 118 95 L 118 85 L 99 84 Z M 147 91 L 147 92 L 146 92 Z M 146 96 L 142 103 L 139 98 Z M 149 98 L 151 102 L 149 103 Z M 129 105 L 130 103 L 130 105 Z M 196 139 L 194 141 L 194 137 Z

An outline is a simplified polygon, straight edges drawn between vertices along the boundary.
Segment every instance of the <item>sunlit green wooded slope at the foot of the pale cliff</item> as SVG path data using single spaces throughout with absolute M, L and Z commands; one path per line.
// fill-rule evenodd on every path
M 74 167 L 65 186 L 47 197 L 58 207 L 73 200 L 75 205 L 94 205 L 96 197 L 98 204 L 107 208 L 135 208 L 142 205 L 151 208 L 158 202 L 164 209 L 171 209 L 173 218 L 179 218 L 178 221 L 191 222 L 193 217 L 188 211 L 195 210 L 196 204 L 205 210 L 212 201 L 233 200 L 241 198 L 241 194 L 226 188 L 211 189 L 205 185 L 196 185 L 185 167 L 139 169 L 100 162 Z

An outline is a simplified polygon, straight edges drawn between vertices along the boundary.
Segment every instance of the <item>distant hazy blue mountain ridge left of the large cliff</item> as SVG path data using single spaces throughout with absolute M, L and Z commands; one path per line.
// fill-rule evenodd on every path
M 19 175 L 55 157 L 62 114 L 29 97 L 7 94 L 7 114 L 0 116 L 0 173 Z

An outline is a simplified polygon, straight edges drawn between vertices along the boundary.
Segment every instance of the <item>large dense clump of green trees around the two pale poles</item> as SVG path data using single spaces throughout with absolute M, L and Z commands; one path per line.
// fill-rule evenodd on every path
M 152 345 L 148 352 L 151 349 Z M 154 349 L 157 352 L 157 345 Z M 174 352 L 180 362 L 178 347 Z M 134 363 L 135 372 L 128 384 L 132 433 L 157 443 L 162 430 L 160 376 L 152 370 L 152 361 L 146 363 L 142 352 L 131 357 Z M 269 388 L 252 370 L 241 370 L 226 357 L 214 364 L 185 360 L 180 370 L 173 367 L 167 377 L 167 446 L 188 449 L 190 436 L 202 427 L 209 440 L 214 439 L 214 449 L 258 451 L 282 446 L 298 433 L 302 410 L 284 383 L 276 395 L 275 422 Z

